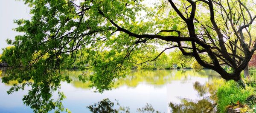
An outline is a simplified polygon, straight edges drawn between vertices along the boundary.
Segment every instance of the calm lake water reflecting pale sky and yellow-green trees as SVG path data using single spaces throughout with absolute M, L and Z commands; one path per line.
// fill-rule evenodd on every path
M 61 91 L 67 97 L 63 101 L 64 107 L 72 113 L 90 113 L 88 106 L 103 99 L 113 102 L 113 109 L 129 107 L 131 113 L 142 112 L 146 105 L 161 113 L 212 113 L 215 112 L 213 94 L 221 84 L 218 73 L 212 70 L 136 71 L 116 82 L 113 90 L 97 93 L 95 89 L 89 88 L 89 83 L 76 79 L 81 72 L 68 73 L 72 75 L 73 81 L 61 82 Z M 9 88 L 11 85 L 0 83 L 0 113 L 32 113 L 33 110 L 22 102 L 29 88 L 8 95 L 6 91 Z

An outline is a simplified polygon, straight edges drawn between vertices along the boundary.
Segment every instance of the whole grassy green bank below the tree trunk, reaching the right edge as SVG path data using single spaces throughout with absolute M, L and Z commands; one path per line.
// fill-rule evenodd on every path
M 250 79 L 244 79 L 247 84 L 245 89 L 239 88 L 239 85 L 230 80 L 218 88 L 218 112 L 227 113 L 227 107 L 244 107 L 241 113 L 248 112 L 255 113 L 256 109 L 256 70 L 250 70 Z M 250 96 L 250 97 L 249 97 Z

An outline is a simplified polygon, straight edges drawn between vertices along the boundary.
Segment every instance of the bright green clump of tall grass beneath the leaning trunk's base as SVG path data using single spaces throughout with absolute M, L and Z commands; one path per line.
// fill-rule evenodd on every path
M 218 111 L 226 113 L 228 105 L 234 105 L 237 102 L 245 104 L 247 97 L 253 94 L 253 88 L 239 88 L 237 83 L 232 81 L 226 82 L 217 91 Z

